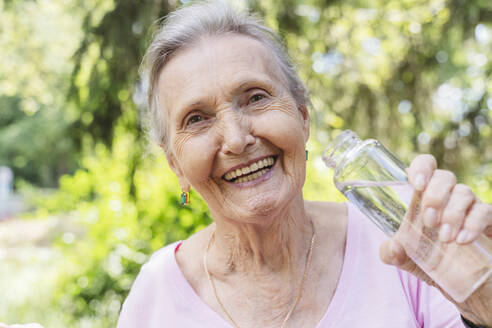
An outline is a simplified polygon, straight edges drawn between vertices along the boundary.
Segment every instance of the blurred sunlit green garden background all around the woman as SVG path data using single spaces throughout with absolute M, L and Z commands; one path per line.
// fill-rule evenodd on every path
M 149 255 L 211 222 L 139 128 L 138 67 L 178 0 L 0 0 L 0 321 L 114 327 Z M 308 199 L 343 129 L 432 153 L 492 202 L 492 2 L 237 0 L 311 91 Z

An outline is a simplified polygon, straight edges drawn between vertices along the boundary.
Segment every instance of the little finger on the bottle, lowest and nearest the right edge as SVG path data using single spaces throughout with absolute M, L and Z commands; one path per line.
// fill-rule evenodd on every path
M 466 217 L 463 229 L 459 232 L 456 241 L 467 244 L 487 230 L 492 230 L 492 206 L 475 202 Z

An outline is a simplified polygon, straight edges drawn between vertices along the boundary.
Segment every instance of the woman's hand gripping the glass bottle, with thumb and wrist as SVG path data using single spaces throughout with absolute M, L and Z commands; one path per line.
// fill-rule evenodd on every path
M 452 172 L 438 170 L 433 156 L 418 156 L 412 161 L 407 173 L 413 187 L 423 192 L 423 224 L 437 229 L 441 242 L 469 244 L 482 234 L 492 239 L 492 206 L 480 202 L 468 186 L 457 184 Z M 492 277 L 465 302 L 457 303 L 407 256 L 396 238 L 383 243 L 380 253 L 383 262 L 408 271 L 437 287 L 458 306 L 467 319 L 492 326 Z

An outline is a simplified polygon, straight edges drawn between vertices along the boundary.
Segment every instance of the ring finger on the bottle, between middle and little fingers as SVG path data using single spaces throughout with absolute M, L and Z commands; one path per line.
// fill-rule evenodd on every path
M 442 227 L 439 239 L 442 242 L 450 242 L 456 238 L 474 201 L 475 194 L 470 187 L 464 184 L 454 186 L 449 201 L 441 215 Z

